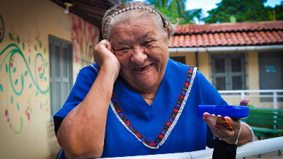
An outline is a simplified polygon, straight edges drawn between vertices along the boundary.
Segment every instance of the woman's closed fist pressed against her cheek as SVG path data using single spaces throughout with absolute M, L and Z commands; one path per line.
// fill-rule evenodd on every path
M 120 62 L 113 54 L 111 43 L 108 40 L 102 40 L 93 49 L 93 59 L 100 67 L 111 69 L 117 75 L 120 71 Z

